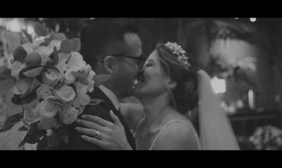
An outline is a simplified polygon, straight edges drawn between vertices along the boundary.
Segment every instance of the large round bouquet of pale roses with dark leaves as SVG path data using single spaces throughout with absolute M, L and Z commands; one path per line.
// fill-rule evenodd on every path
M 53 131 L 54 142 L 61 138 L 67 143 L 65 125 L 72 124 L 90 103 L 87 93 L 94 90 L 95 73 L 78 53 L 78 38 L 48 33 L 40 23 L 35 23 L 35 33 L 32 37 L 23 30 L 25 37 L 13 51 L 11 67 L 0 67 L 0 80 L 9 76 L 13 82 L 12 102 L 23 106 L 23 112 L 5 122 L 6 127 L 23 121 L 25 126 L 19 130 L 28 132 L 19 146 L 47 140 L 48 130 Z

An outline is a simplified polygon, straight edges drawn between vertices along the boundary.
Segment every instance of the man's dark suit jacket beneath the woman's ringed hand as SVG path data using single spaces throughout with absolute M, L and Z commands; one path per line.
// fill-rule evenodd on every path
M 114 104 L 109 100 L 109 97 L 107 97 L 102 90 L 99 88 L 94 88 L 94 91 L 90 93 L 90 97 L 104 100 L 104 102 L 101 102 L 97 105 L 87 105 L 85 107 L 85 110 L 82 114 L 90 114 L 93 116 L 99 116 L 102 119 L 105 119 L 107 121 L 111 121 L 111 116 L 109 115 L 110 110 L 118 116 L 118 118 L 121 120 L 121 124 L 123 124 L 125 128 L 125 134 L 126 138 L 128 139 L 128 143 L 130 144 L 131 148 L 135 150 L 135 139 L 130 132 L 130 129 L 128 125 L 125 123 L 123 116 L 121 116 L 121 112 L 117 110 L 114 107 Z M 81 119 L 81 115 L 78 116 L 78 119 Z M 97 145 L 92 145 L 91 143 L 86 142 L 85 140 L 82 140 L 80 136 L 82 136 L 81 133 L 78 133 L 78 131 L 75 130 L 75 127 L 77 127 L 78 124 L 73 123 L 68 126 L 68 144 L 61 145 L 62 150 L 102 150 L 102 148 L 99 148 Z

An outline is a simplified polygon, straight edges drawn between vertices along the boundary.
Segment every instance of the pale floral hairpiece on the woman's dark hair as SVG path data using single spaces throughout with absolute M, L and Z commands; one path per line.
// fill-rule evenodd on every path
M 164 44 L 173 54 L 177 55 L 177 61 L 183 68 L 190 70 L 191 63 L 190 58 L 186 56 L 186 52 L 176 42 L 166 42 Z

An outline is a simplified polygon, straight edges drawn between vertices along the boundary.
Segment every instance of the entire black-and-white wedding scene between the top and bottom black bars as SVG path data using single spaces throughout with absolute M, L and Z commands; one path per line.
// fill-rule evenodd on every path
M 282 18 L 0 18 L 0 150 L 282 150 Z

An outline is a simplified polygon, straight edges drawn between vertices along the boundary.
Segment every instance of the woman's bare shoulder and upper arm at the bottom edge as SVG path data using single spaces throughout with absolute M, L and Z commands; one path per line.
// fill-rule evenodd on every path
M 153 150 L 199 150 L 199 147 L 192 128 L 173 122 L 161 131 Z

